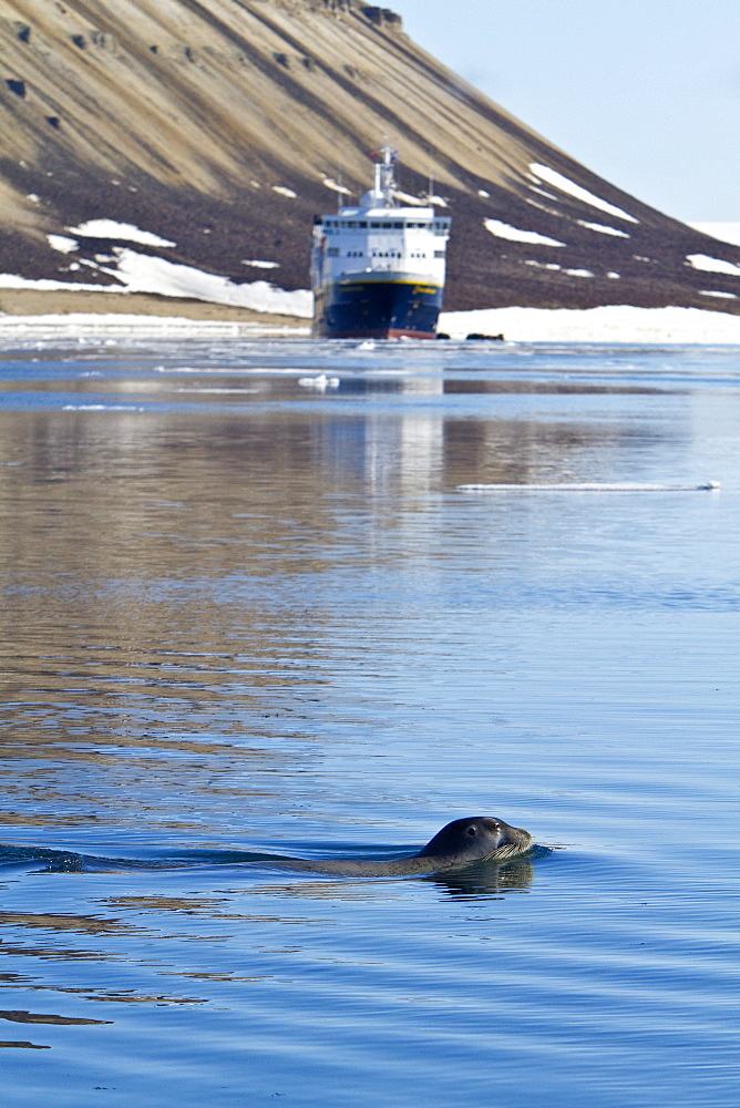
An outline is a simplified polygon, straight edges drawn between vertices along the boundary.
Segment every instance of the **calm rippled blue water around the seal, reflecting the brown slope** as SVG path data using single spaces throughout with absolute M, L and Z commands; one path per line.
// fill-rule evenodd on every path
M 738 1102 L 739 349 L 0 372 L 12 1108 Z M 473 814 L 548 849 L 270 868 Z

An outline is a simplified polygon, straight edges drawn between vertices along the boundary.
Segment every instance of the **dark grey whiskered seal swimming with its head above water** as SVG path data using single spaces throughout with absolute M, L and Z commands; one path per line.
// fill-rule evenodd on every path
M 507 862 L 526 853 L 532 835 L 492 815 L 472 815 L 448 823 L 417 854 L 382 860 L 347 859 L 276 859 L 270 868 L 308 870 L 314 873 L 338 873 L 345 876 L 395 878 L 414 873 L 443 873 L 460 870 L 475 862 Z

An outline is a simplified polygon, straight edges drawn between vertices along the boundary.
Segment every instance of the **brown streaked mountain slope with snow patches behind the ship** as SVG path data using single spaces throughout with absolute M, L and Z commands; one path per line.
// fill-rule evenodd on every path
M 589 173 L 360 0 L 0 0 L 0 271 L 136 287 L 145 257 L 306 288 L 314 213 L 364 191 L 384 135 L 400 188 L 432 177 L 453 217 L 448 308 L 740 312 L 740 248 Z

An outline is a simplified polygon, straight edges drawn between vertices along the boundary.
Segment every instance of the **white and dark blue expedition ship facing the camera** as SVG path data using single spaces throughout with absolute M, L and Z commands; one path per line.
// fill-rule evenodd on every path
M 411 197 L 397 203 L 398 153 L 388 143 L 371 157 L 373 186 L 359 206 L 314 222 L 314 335 L 434 339 L 451 219 Z

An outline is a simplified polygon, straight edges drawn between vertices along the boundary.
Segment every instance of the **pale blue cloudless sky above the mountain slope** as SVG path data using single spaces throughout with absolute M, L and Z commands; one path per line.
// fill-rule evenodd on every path
M 382 6 L 613 185 L 685 222 L 740 222 L 740 0 Z

